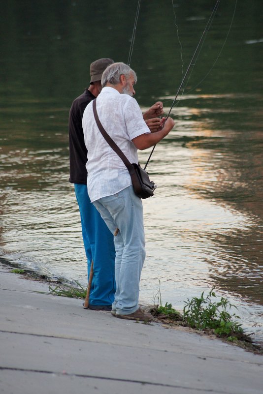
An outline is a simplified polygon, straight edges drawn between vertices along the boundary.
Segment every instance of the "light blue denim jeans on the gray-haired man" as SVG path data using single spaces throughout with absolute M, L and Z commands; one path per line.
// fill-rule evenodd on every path
M 135 312 L 139 300 L 140 274 L 145 259 L 142 202 L 132 186 L 93 203 L 114 234 L 116 293 L 112 309 L 128 315 Z

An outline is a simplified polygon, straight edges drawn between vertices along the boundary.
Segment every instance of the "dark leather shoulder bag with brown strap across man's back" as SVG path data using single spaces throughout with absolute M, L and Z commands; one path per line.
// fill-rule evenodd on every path
M 132 186 L 134 193 L 140 198 L 148 198 L 153 196 L 154 190 L 156 189 L 156 184 L 153 181 L 150 181 L 149 175 L 140 165 L 136 163 L 130 163 L 125 154 L 120 150 L 118 145 L 115 144 L 113 139 L 108 135 L 104 127 L 99 121 L 97 108 L 96 108 L 96 98 L 93 100 L 93 112 L 96 123 L 99 127 L 99 131 L 109 144 L 109 146 L 113 149 L 114 152 L 118 154 L 118 156 L 122 159 L 124 164 L 126 165 L 132 179 Z

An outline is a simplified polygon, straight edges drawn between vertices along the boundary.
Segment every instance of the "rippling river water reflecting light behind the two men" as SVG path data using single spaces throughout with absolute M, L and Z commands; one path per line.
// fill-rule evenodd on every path
M 137 1 L 114 3 L 8 1 L 1 16 L 0 257 L 84 286 L 67 118 L 91 61 L 128 59 Z M 142 111 L 161 99 L 167 114 L 213 5 L 141 2 L 131 65 Z M 148 165 L 158 188 L 143 202 L 140 300 L 156 299 L 160 281 L 163 303 L 182 309 L 214 287 L 263 341 L 262 7 L 237 2 L 222 50 L 234 6 L 221 1 Z

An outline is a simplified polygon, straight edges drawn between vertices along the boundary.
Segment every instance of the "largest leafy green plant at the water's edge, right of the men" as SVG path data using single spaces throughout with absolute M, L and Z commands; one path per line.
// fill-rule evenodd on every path
M 240 317 L 230 314 L 230 309 L 237 309 L 236 306 L 224 297 L 220 301 L 213 301 L 213 298 L 217 298 L 214 289 L 206 297 L 203 292 L 200 298 L 185 301 L 183 319 L 187 325 L 198 330 L 212 329 L 218 336 L 233 338 L 243 334 L 241 324 L 236 320 Z

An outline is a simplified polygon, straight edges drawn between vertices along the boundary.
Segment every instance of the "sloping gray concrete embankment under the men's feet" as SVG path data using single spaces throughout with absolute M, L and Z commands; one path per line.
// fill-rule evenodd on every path
M 50 282 L 11 270 L 0 264 L 6 394 L 262 393 L 260 355 L 162 321 L 84 309 L 82 300 L 50 294 Z

